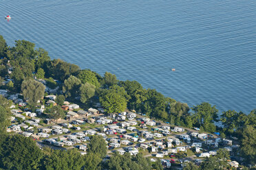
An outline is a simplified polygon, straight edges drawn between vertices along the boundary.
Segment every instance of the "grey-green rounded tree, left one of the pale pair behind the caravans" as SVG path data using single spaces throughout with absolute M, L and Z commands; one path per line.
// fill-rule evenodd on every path
M 79 93 L 79 88 L 81 86 L 81 80 L 70 75 L 67 80 L 64 81 L 63 93 L 65 97 L 77 97 Z

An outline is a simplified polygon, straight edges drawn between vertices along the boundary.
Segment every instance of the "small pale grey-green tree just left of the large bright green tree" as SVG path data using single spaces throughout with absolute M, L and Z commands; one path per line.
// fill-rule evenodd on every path
M 95 94 L 95 86 L 89 83 L 82 84 L 79 90 L 81 94 L 80 100 L 83 104 Z

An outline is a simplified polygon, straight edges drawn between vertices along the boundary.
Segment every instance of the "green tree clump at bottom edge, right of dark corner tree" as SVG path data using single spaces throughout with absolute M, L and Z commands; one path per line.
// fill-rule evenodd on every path
M 81 156 L 76 149 L 66 150 L 51 150 L 49 155 L 43 159 L 41 169 L 47 170 L 65 170 L 74 169 L 81 170 L 85 164 L 85 156 Z

